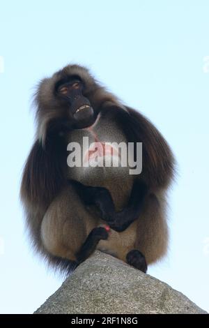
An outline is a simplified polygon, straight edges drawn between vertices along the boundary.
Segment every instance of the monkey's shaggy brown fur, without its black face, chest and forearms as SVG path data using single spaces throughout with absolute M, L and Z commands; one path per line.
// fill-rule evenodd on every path
M 67 108 L 54 94 L 54 85 L 65 75 L 79 75 L 85 84 L 84 96 L 95 112 L 114 110 L 118 129 L 127 142 L 143 142 L 143 171 L 137 179 L 144 179 L 149 193 L 137 221 L 124 232 L 111 230 L 98 249 L 122 260 L 133 248 L 144 253 L 148 263 L 155 262 L 167 251 L 166 191 L 173 178 L 173 156 L 159 131 L 142 114 L 125 107 L 90 75 L 86 68 L 71 65 L 42 80 L 36 94 L 36 142 L 24 167 L 21 197 L 26 211 L 27 225 L 36 250 L 49 262 L 68 267 L 67 260 L 75 260 L 75 253 L 89 232 L 104 221 L 97 212 L 86 209 L 75 190 L 68 185 L 66 144 L 48 131 L 54 122 L 68 121 Z M 125 114 L 122 118 L 121 111 Z M 68 142 L 70 136 L 68 135 Z M 66 141 L 66 140 L 65 140 Z M 53 161 L 52 161 L 53 158 Z M 132 177 L 124 181 L 101 181 L 118 209 L 125 206 L 132 187 Z M 136 179 L 136 177 L 134 177 Z M 67 260 L 66 260 L 67 259 Z

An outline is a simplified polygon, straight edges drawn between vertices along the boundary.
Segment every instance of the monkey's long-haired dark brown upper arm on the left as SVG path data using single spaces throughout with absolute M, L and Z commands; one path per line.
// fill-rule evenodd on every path
M 45 149 L 39 140 L 33 144 L 24 166 L 21 197 L 25 202 L 46 207 L 64 184 L 61 167 L 63 145 L 59 140 L 47 143 Z

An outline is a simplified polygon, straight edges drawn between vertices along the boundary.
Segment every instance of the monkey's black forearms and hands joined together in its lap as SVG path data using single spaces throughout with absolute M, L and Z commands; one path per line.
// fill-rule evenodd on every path
M 122 211 L 116 212 L 111 194 L 106 188 L 84 186 L 77 181 L 72 181 L 72 184 L 84 204 L 96 205 L 100 209 L 102 219 L 109 224 L 111 229 L 117 232 L 124 231 L 139 217 L 147 193 L 146 184 L 135 180 L 127 206 Z

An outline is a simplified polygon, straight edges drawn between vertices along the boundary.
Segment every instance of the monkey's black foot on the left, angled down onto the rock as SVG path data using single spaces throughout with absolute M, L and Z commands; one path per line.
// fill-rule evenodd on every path
M 91 230 L 90 234 L 88 234 L 88 237 L 86 238 L 86 241 L 84 241 L 84 244 L 82 245 L 81 249 L 75 255 L 77 258 L 77 262 L 81 263 L 86 260 L 86 258 L 88 258 L 93 253 L 93 251 L 95 251 L 98 242 L 101 239 L 107 238 L 108 232 L 105 228 L 98 227 Z

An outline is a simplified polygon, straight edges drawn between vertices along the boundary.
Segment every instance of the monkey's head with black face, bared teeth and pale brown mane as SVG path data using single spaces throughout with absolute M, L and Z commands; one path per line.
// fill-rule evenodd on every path
M 69 65 L 42 80 L 36 94 L 38 139 L 92 126 L 104 103 L 118 105 L 86 68 Z

